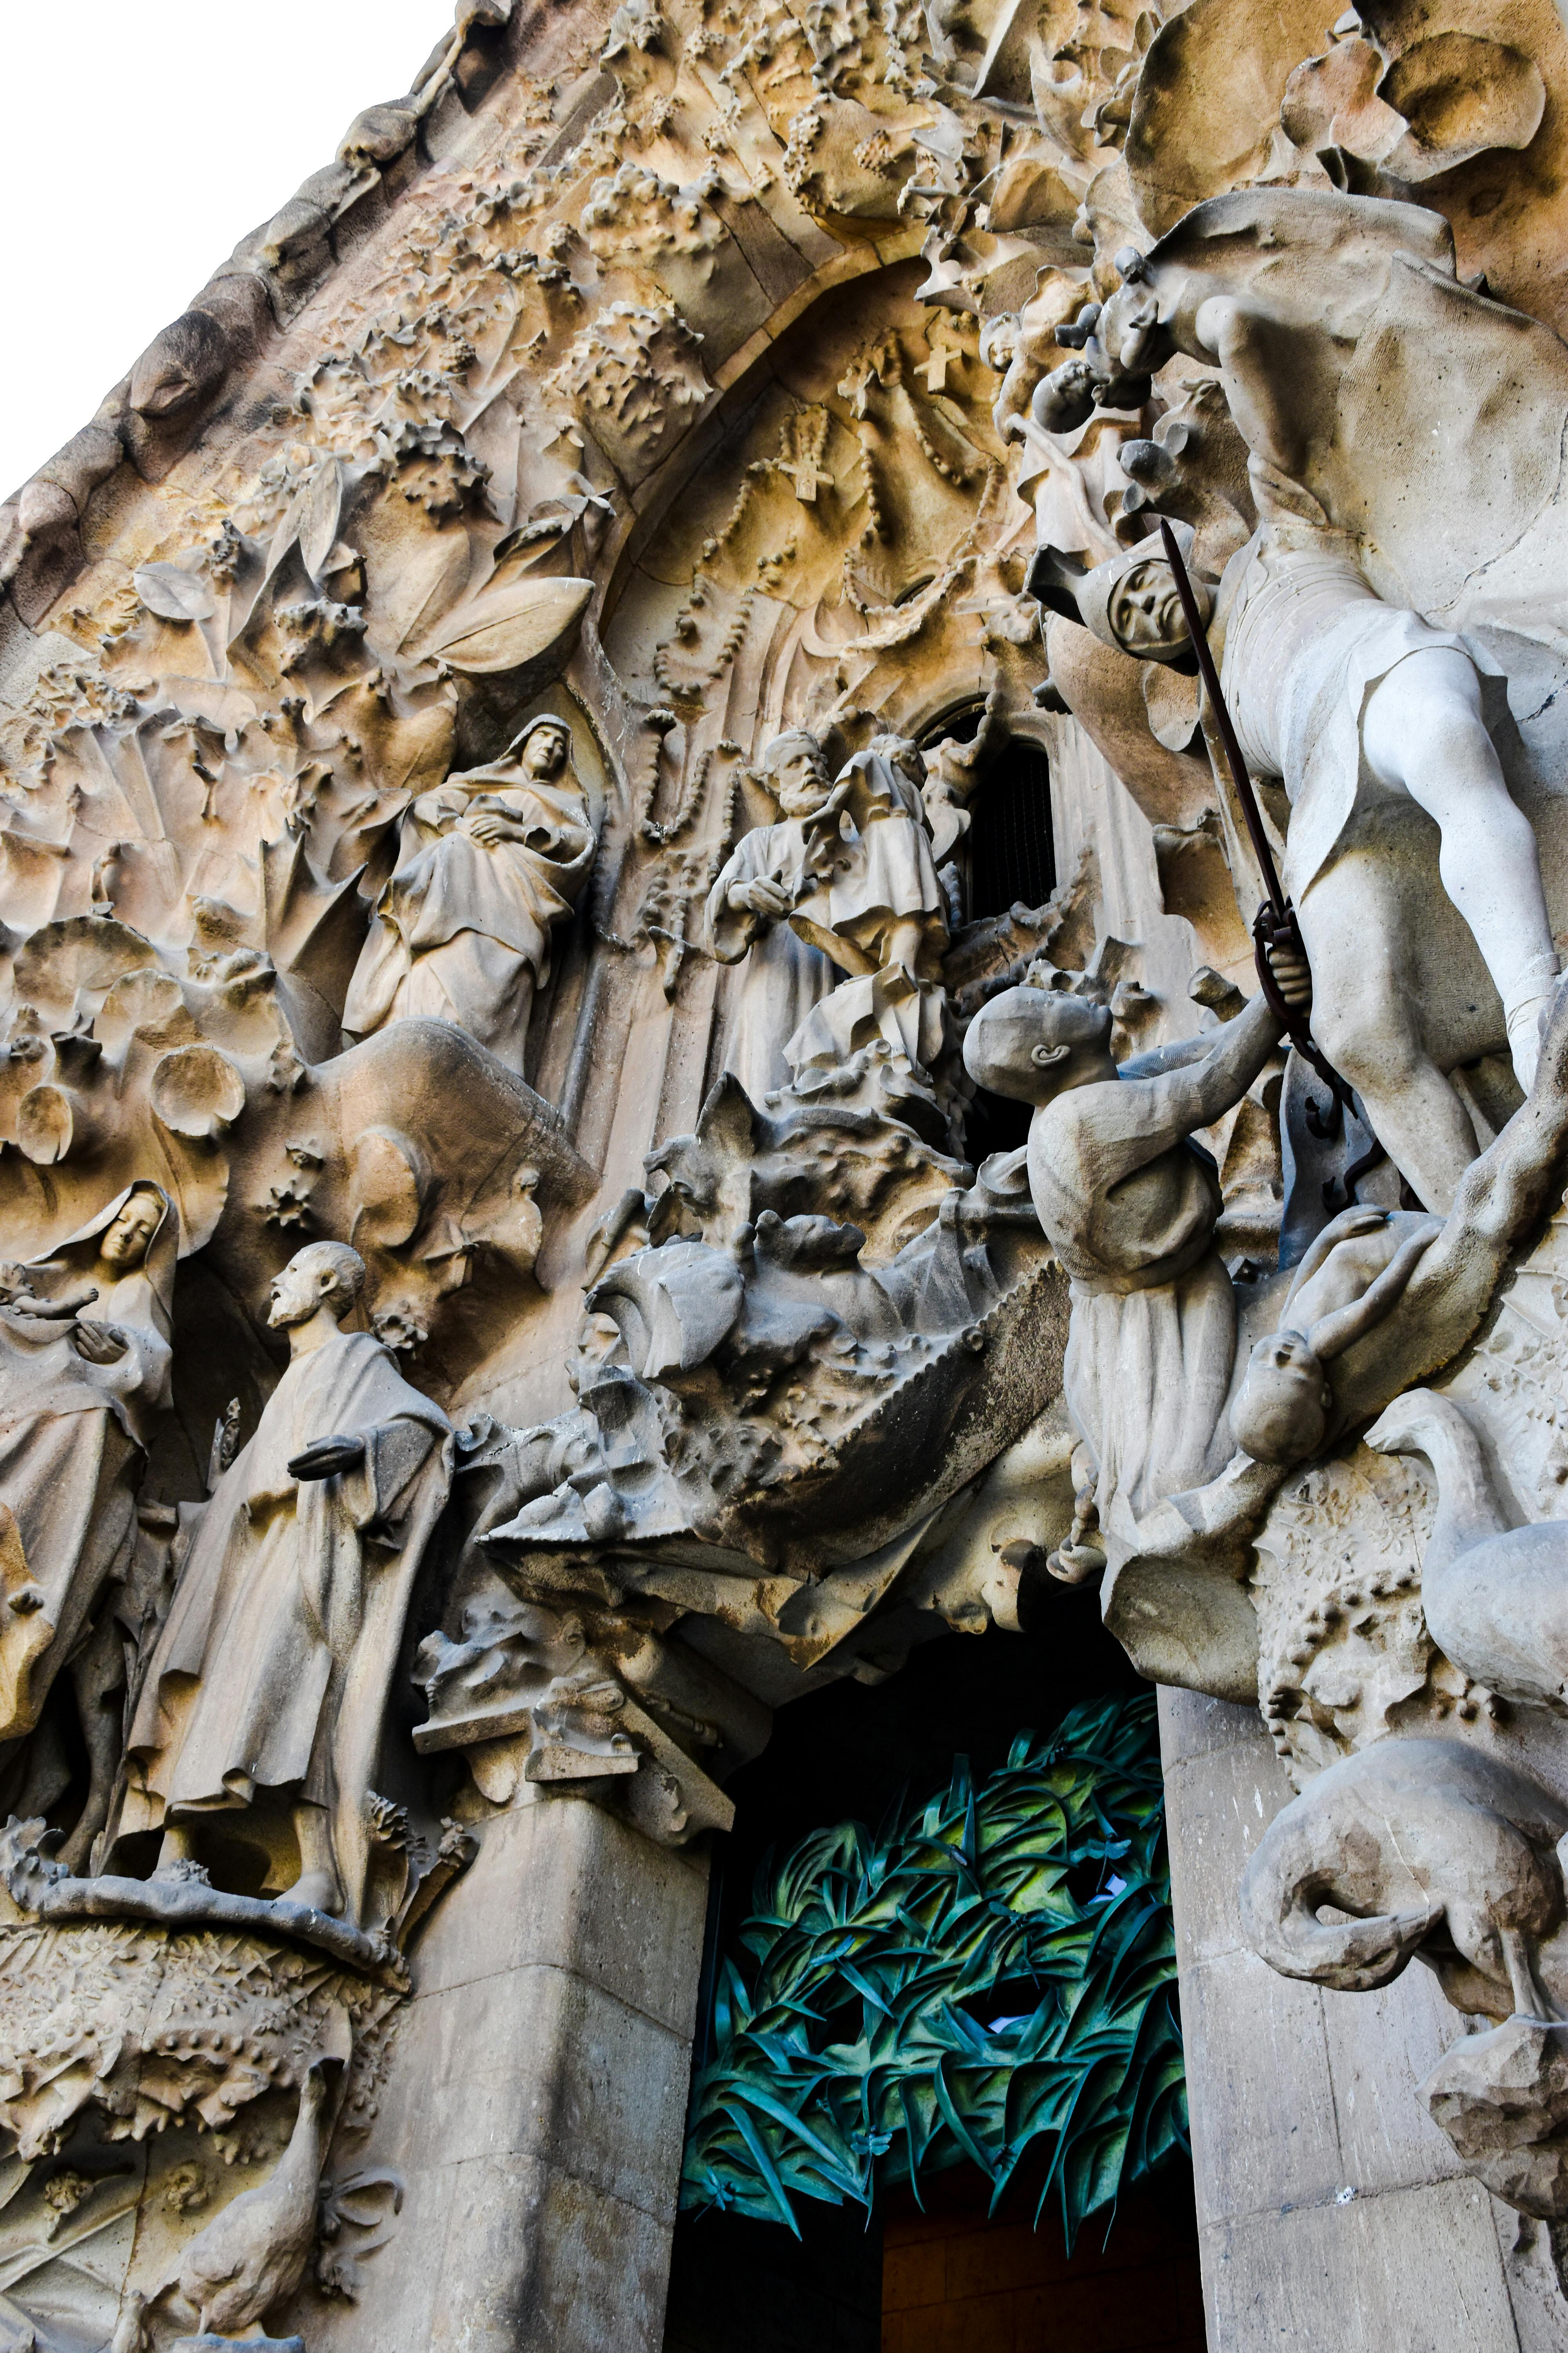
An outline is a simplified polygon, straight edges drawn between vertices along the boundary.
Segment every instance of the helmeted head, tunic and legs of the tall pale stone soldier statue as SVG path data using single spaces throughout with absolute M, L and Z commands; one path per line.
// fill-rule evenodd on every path
M 1074 593 L 1105 645 L 1190 656 L 1171 567 L 1147 544 L 1095 565 Z M 1443 889 L 1497 986 L 1528 1092 L 1559 958 L 1535 833 L 1493 744 L 1507 680 L 1467 638 L 1385 605 L 1352 544 L 1324 527 L 1265 525 L 1225 593 L 1225 701 L 1248 769 L 1284 781 L 1291 802 L 1284 887 L 1312 962 L 1314 1038 L 1420 1200 L 1448 1209 L 1476 1132 L 1427 1049 L 1378 852 L 1399 800 L 1439 826 Z

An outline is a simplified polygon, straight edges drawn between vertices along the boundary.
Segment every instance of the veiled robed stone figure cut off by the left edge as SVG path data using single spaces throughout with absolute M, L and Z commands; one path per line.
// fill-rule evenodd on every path
M 169 1402 L 179 1217 L 132 1184 L 54 1252 L 0 1271 L 0 1741 L 38 1725 L 136 1541 Z M 16 1793 L 21 1795 L 21 1793 Z M 31 1800 L 40 1798 L 31 1791 Z

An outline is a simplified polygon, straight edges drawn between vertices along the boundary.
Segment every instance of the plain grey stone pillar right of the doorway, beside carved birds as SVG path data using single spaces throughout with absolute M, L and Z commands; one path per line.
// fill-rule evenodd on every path
M 1241 1944 L 1237 1882 L 1291 1786 L 1253 1708 L 1161 1689 L 1211 2353 L 1544 2353 L 1552 2233 L 1460 2172 L 1415 2097 L 1465 2031 L 1410 1965 L 1321 1993 Z

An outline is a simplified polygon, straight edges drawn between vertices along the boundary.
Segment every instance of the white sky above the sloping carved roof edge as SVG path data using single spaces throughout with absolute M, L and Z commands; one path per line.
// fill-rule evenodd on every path
M 449 24 L 451 0 L 0 0 L 0 496 Z

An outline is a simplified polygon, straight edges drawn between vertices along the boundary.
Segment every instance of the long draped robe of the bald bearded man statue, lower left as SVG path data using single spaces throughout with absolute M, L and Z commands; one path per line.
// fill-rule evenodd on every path
M 364 1461 L 289 1478 L 334 1435 Z M 122 1835 L 268 1791 L 322 1805 L 362 1918 L 386 1704 L 449 1478 L 451 1424 L 381 1341 L 339 1332 L 294 1358 L 195 1527 L 132 1722 Z

